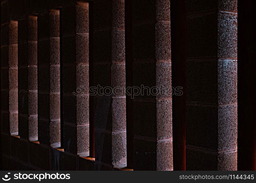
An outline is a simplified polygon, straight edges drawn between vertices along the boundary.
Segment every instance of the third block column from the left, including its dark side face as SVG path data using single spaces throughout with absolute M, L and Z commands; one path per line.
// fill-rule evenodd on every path
M 38 140 L 60 146 L 59 10 L 38 14 Z

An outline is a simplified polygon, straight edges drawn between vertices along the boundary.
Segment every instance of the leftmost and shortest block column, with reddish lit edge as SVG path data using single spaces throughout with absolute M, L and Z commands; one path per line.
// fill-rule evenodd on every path
M 1 24 L 1 80 L 2 131 L 18 135 L 18 22 L 15 20 Z

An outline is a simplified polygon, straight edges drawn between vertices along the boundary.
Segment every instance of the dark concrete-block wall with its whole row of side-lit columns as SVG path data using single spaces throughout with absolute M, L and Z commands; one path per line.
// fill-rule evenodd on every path
M 236 170 L 237 0 L 179 2 L 1 0 L 2 169 Z

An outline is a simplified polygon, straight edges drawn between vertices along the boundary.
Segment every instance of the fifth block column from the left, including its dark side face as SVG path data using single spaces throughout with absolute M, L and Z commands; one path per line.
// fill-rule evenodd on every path
M 126 166 L 127 154 L 126 97 L 121 89 L 125 87 L 125 4 L 96 0 L 93 8 L 93 83 L 104 88 L 94 96 L 95 159 L 121 167 Z

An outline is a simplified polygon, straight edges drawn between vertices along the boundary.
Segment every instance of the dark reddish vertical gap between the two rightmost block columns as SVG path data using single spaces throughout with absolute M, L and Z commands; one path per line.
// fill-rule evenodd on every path
M 186 170 L 186 0 L 171 1 L 173 168 Z

